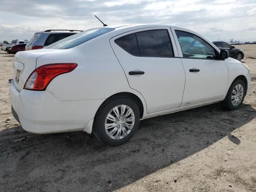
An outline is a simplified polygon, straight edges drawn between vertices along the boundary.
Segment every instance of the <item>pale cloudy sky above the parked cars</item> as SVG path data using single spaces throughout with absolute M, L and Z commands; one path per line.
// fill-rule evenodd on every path
M 170 24 L 208 40 L 256 41 L 256 0 L 1 0 L 0 42 L 47 29 Z

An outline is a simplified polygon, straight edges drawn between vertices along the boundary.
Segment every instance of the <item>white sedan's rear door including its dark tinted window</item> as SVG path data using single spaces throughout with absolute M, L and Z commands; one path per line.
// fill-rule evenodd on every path
M 147 112 L 178 108 L 185 73 L 170 28 L 144 28 L 110 39 L 131 88 L 146 100 Z M 114 85 L 114 83 L 113 83 Z

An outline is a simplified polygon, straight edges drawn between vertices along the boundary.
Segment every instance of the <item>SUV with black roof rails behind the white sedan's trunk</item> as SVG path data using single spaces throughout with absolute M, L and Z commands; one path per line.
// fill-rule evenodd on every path
M 27 44 L 25 50 L 42 49 L 71 35 L 81 32 L 80 30 L 51 30 L 37 32 Z

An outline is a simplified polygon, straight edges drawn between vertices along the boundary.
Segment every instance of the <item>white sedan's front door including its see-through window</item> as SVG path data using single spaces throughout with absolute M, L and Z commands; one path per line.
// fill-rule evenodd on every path
M 186 73 L 181 107 L 222 98 L 228 84 L 228 67 L 224 60 L 216 60 L 217 50 L 189 30 L 172 28 L 172 32 Z M 189 43 L 184 46 L 184 41 Z

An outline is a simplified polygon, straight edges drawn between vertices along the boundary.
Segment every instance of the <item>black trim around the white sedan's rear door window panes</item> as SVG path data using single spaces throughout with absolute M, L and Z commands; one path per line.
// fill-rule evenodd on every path
M 168 57 L 168 56 L 143 56 L 143 55 L 140 55 L 140 46 L 139 46 L 138 38 L 137 38 L 137 35 L 136 35 L 136 34 L 139 33 L 139 32 L 154 31 L 154 30 L 166 30 L 166 31 L 167 31 L 167 34 L 168 34 L 168 37 L 169 37 L 169 40 L 170 40 L 170 44 L 171 44 L 171 47 L 172 47 L 172 55 L 173 55 L 173 56 Z M 139 50 L 139 55 L 135 55 L 135 54 L 132 54 L 132 53 L 126 51 L 124 48 L 122 48 L 121 46 L 119 46 L 119 45 L 115 42 L 115 41 L 116 41 L 117 39 L 119 39 L 119 38 L 122 38 L 122 37 L 125 37 L 125 36 L 128 36 L 128 35 L 132 35 L 132 34 L 135 34 L 135 36 L 136 36 L 136 41 L 137 41 L 137 46 L 138 46 L 138 50 Z M 175 57 L 175 54 L 174 54 L 174 50 L 173 50 L 173 45 L 172 45 L 172 40 L 171 40 L 171 37 L 170 37 L 170 32 L 168 31 L 167 28 L 166 28 L 166 29 L 163 29 L 163 28 L 160 28 L 160 29 L 147 29 L 147 30 L 136 31 L 136 32 L 133 32 L 133 33 L 126 34 L 126 35 L 124 35 L 124 36 L 118 37 L 118 38 L 114 39 L 114 42 L 115 42 L 115 44 L 117 44 L 120 48 L 122 48 L 124 51 L 126 51 L 126 52 L 128 52 L 129 54 L 131 54 L 131 55 L 133 55 L 133 56 L 136 56 L 136 57 L 176 58 L 176 57 Z

